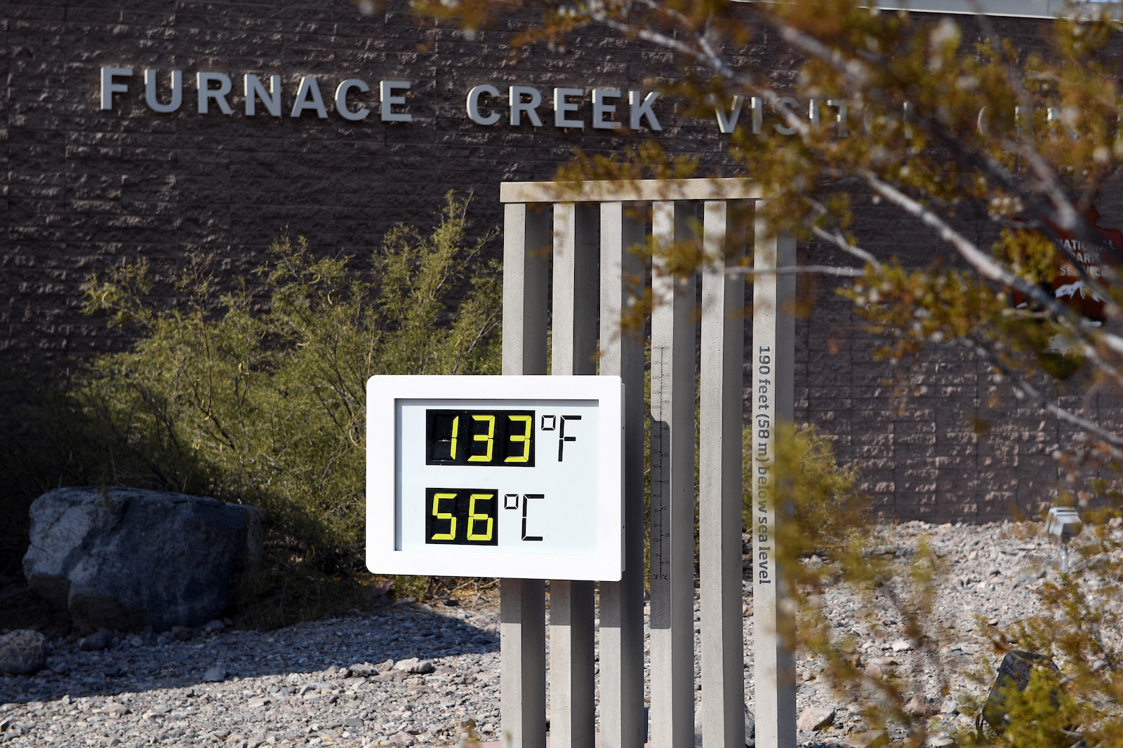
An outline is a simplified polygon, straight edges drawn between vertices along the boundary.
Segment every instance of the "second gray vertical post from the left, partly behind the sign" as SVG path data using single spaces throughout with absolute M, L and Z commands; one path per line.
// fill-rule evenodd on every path
M 553 373 L 596 373 L 595 204 L 554 206 Z M 550 582 L 550 745 L 593 748 L 593 582 Z

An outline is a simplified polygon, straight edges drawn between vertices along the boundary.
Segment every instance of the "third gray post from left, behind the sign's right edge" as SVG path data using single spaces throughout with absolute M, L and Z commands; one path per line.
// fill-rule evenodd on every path
M 643 744 L 643 343 L 621 332 L 643 264 L 628 249 L 642 244 L 643 223 L 624 203 L 601 204 L 601 373 L 624 385 L 624 573 L 601 582 L 601 746 Z

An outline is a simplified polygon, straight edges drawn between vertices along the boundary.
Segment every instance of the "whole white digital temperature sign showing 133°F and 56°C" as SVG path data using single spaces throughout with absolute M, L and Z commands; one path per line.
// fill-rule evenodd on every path
M 619 377 L 372 377 L 367 566 L 617 581 Z

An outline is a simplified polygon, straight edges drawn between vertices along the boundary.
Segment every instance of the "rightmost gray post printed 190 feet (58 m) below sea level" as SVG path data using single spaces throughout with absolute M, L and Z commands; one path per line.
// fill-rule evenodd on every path
M 784 570 L 777 563 L 776 430 L 791 424 L 795 387 L 795 276 L 768 273 L 795 265 L 795 240 L 768 237 L 756 222 L 752 280 L 752 638 L 755 649 L 756 729 L 758 748 L 795 746 L 795 665 L 782 632 L 791 631 L 792 611 L 784 604 Z

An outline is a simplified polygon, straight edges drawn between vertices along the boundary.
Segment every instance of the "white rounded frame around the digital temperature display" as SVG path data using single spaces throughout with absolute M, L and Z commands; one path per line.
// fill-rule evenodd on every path
M 433 393 L 440 393 L 435 397 Z M 376 376 L 366 384 L 366 564 L 376 574 L 620 581 L 623 573 L 623 385 L 620 377 Z M 396 547 L 400 460 L 398 403 L 403 400 L 555 400 L 597 403 L 596 550 L 591 555 L 489 553 Z M 462 407 L 458 405 L 457 407 Z M 541 406 L 535 406 L 541 407 Z M 505 468 L 504 470 L 511 470 Z M 480 468 L 485 470 L 485 468 Z

